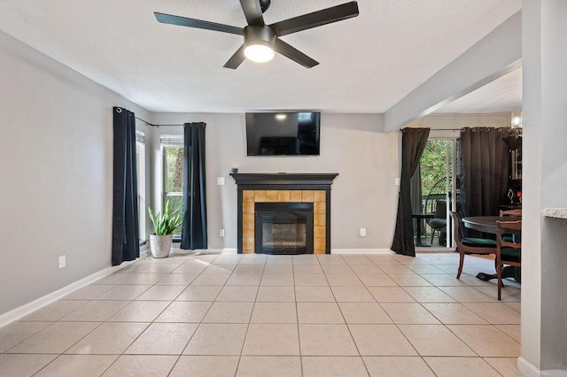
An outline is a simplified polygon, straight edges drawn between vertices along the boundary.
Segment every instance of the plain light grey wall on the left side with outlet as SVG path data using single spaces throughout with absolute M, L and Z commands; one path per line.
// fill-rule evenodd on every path
M 113 105 L 149 115 L 0 32 L 0 314 L 111 265 Z

